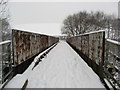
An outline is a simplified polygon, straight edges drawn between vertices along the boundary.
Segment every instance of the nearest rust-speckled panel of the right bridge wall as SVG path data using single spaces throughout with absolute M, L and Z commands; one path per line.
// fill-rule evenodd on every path
M 103 64 L 103 33 L 94 33 L 89 35 L 89 58 L 96 64 Z

